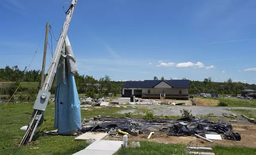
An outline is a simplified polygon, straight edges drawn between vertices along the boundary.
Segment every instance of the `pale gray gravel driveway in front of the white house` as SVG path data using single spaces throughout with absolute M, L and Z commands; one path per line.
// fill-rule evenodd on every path
M 170 106 L 170 105 L 133 105 L 140 108 L 148 108 L 154 111 L 154 115 L 174 115 L 181 116 L 180 110 L 186 109 L 191 110 L 193 115 L 209 115 L 209 113 L 214 113 L 214 115 L 222 115 L 222 113 L 233 113 L 224 109 L 244 109 L 244 110 L 256 110 L 256 108 L 247 107 L 210 107 L 210 106 Z M 121 111 L 122 113 L 122 111 Z

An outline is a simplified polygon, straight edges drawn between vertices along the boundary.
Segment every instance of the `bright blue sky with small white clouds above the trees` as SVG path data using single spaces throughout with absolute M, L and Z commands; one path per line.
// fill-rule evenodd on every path
M 45 24 L 58 37 L 65 2 L 1 0 L 0 68 L 28 66 L 41 41 L 30 67 L 41 69 Z M 79 73 L 96 79 L 256 83 L 255 14 L 255 0 L 78 0 L 68 36 Z

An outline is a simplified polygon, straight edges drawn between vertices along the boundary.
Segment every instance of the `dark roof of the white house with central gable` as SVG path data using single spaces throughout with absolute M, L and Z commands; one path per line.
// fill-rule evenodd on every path
M 162 80 L 126 81 L 122 85 L 122 88 L 153 88 L 161 81 Z M 173 88 L 189 88 L 188 79 L 174 79 L 164 81 L 171 85 Z

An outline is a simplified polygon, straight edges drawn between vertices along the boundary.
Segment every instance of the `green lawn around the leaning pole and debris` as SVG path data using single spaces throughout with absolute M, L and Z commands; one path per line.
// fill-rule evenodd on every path
M 36 138 L 37 141 L 32 142 L 29 146 L 17 147 L 24 136 L 24 131 L 20 128 L 27 125 L 33 112 L 33 104 L 8 104 L 0 111 L 0 155 L 72 155 L 87 147 L 84 141 L 75 141 L 74 136 L 40 136 Z M 0 105 L 0 108 L 3 106 L 3 104 Z M 124 114 L 118 114 L 117 112 L 130 109 L 134 108 L 81 110 L 81 118 L 91 118 L 95 115 L 124 117 Z M 142 109 L 138 109 L 138 111 L 141 112 Z M 132 115 L 132 117 L 142 117 L 142 115 Z M 173 116 L 173 118 L 178 117 Z M 47 106 L 45 119 L 47 121 L 41 126 L 42 128 L 37 129 L 37 132 L 40 130 L 54 130 L 54 104 Z M 33 147 L 38 147 L 38 149 L 29 149 Z M 141 142 L 140 148 L 121 149 L 117 152 L 117 155 L 184 155 L 184 147 L 182 144 Z M 254 155 L 256 149 L 214 146 L 213 152 L 216 155 Z

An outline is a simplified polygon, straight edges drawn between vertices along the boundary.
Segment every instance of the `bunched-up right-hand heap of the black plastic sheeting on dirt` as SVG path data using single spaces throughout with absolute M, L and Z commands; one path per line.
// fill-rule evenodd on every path
M 225 139 L 228 140 L 241 140 L 239 133 L 231 131 L 231 124 L 218 122 L 214 123 L 209 119 L 181 119 L 188 125 L 182 127 L 174 125 L 169 128 L 168 136 L 193 136 L 194 134 L 223 134 Z

